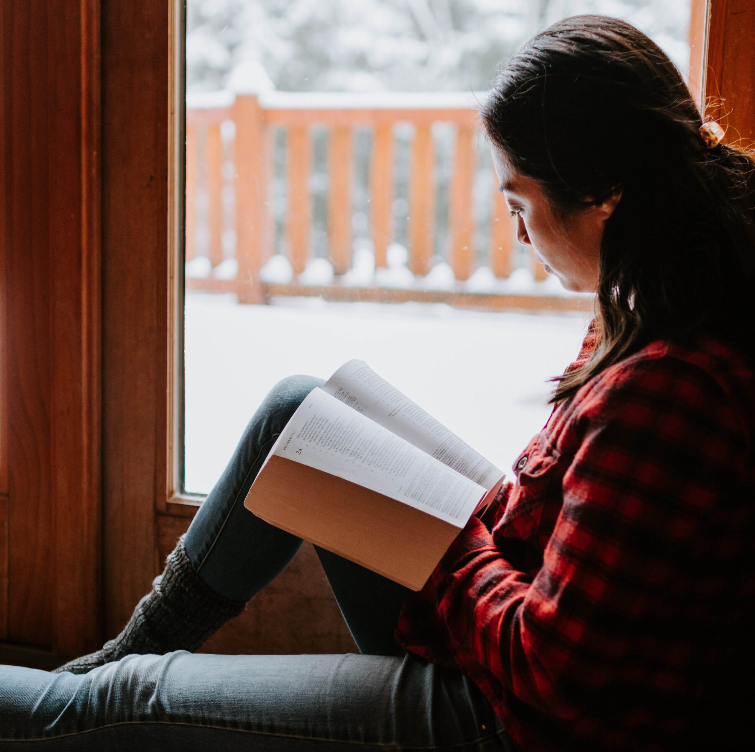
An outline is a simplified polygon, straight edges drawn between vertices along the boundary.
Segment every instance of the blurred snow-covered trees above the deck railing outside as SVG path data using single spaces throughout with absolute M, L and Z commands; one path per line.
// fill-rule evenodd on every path
M 578 13 L 623 17 L 682 67 L 690 0 L 189 0 L 190 91 L 260 63 L 290 91 L 486 88 L 529 36 Z

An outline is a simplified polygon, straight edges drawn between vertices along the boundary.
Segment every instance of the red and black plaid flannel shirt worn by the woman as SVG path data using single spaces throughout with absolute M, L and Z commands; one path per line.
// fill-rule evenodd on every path
M 753 429 L 753 370 L 716 339 L 615 364 L 553 411 L 397 638 L 467 673 L 522 752 L 675 747 L 753 642 Z

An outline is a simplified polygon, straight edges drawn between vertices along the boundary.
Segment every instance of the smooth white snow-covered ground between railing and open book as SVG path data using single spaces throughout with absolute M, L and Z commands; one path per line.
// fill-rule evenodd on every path
M 186 294 L 186 491 L 208 492 L 257 404 L 293 373 L 361 358 L 509 472 L 550 413 L 550 376 L 575 357 L 584 314 L 459 311 Z

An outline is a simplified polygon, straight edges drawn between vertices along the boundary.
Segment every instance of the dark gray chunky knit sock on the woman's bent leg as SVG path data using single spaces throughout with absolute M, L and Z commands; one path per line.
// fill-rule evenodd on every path
M 54 673 L 87 673 L 134 653 L 193 652 L 245 606 L 245 601 L 218 595 L 196 574 L 183 548 L 182 537 L 168 554 L 165 571 L 153 580 L 152 592 L 137 603 L 119 636 L 100 650 L 63 664 Z

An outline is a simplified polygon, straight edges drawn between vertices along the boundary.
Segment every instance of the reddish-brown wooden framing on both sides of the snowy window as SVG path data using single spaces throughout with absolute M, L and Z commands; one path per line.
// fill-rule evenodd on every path
M 180 487 L 183 13 L 0 5 L 0 642 L 100 645 L 202 500 Z M 729 142 L 755 139 L 753 36 L 751 0 L 693 0 L 692 85 Z

